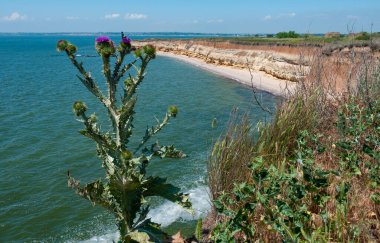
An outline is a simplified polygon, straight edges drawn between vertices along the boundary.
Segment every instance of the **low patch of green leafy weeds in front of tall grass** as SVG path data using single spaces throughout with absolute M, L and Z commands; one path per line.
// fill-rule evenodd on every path
M 235 184 L 231 194 L 215 201 L 217 212 L 227 218 L 214 230 L 215 240 L 223 242 L 241 232 L 239 240 L 253 242 L 267 231 L 295 242 L 302 234 L 311 234 L 316 223 L 313 215 L 326 214 L 330 172 L 316 167 L 312 150 L 305 146 L 307 136 L 304 132 L 297 140 L 297 156 L 279 166 L 268 166 L 263 157 L 255 157 L 249 165 L 252 182 Z

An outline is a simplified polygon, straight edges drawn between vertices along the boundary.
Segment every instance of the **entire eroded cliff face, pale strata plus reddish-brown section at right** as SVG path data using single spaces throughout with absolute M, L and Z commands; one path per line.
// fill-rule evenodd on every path
M 158 51 L 198 58 L 210 64 L 245 70 L 249 67 L 253 72 L 277 79 L 321 83 L 339 92 L 351 88 L 352 79 L 363 68 L 379 65 L 380 60 L 380 51 L 369 46 L 244 45 L 201 39 L 134 43 L 152 44 Z

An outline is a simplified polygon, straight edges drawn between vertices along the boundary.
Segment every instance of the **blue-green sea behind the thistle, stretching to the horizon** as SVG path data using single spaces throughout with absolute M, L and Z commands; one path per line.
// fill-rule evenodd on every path
M 109 34 L 115 42 L 117 34 Z M 56 51 L 58 40 L 78 46 L 78 60 L 105 89 L 101 60 L 94 49 L 98 34 L 0 35 L 0 242 L 112 242 L 118 233 L 112 214 L 92 206 L 67 186 L 67 172 L 81 183 L 104 177 L 95 143 L 80 135 L 72 104 L 81 100 L 89 113 L 110 130 L 104 107 L 80 83 L 67 56 Z M 135 34 L 146 38 L 199 38 L 197 34 Z M 277 97 L 259 93 L 274 107 Z M 157 56 L 137 91 L 131 146 L 147 126 L 163 118 L 169 105 L 179 114 L 152 143 L 174 144 L 187 158 L 156 159 L 149 175 L 190 194 L 195 213 L 155 198 L 149 216 L 169 233 L 191 234 L 195 222 L 211 208 L 207 187 L 207 158 L 226 129 L 232 110 L 251 119 L 270 119 L 255 104 L 252 90 L 233 80 L 169 57 Z M 216 128 L 211 126 L 217 121 Z

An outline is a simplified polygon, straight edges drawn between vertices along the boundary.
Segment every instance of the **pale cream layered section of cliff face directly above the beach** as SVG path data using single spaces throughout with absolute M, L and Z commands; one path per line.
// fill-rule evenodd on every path
M 251 68 L 278 79 L 297 82 L 309 73 L 309 61 L 300 49 L 263 48 L 216 45 L 196 40 L 144 41 L 154 45 L 158 51 L 195 57 L 206 63 L 232 66 L 239 69 Z M 290 48 L 290 47 L 289 47 Z

